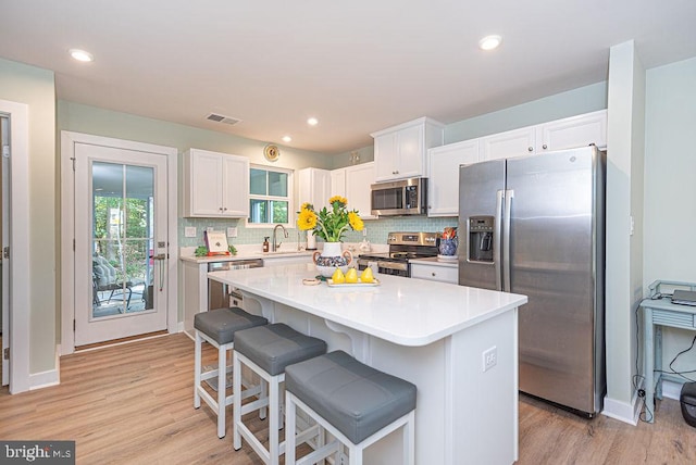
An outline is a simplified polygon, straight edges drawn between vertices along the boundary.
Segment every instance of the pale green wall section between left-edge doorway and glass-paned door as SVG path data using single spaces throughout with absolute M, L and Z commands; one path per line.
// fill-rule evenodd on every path
M 0 99 L 28 105 L 29 118 L 29 374 L 55 369 L 59 296 L 55 91 L 53 73 L 0 59 Z

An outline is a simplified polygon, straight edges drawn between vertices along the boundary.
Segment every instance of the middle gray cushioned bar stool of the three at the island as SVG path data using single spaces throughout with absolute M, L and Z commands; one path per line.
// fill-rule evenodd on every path
M 326 342 L 302 335 L 289 326 L 277 323 L 246 329 L 235 336 L 233 384 L 234 391 L 240 392 L 241 365 L 246 365 L 269 384 L 269 395 L 241 405 L 241 397 L 234 399 L 234 448 L 241 448 L 241 438 L 266 464 L 277 465 L 284 452 L 278 429 L 283 426 L 281 416 L 281 382 L 285 380 L 285 367 L 293 363 L 326 353 Z M 263 381 L 262 381 L 263 382 Z M 256 410 L 269 409 L 269 449 L 244 424 L 241 415 Z

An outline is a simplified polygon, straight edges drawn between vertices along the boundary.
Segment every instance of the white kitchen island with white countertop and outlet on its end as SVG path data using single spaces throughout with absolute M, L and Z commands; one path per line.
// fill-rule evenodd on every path
M 209 277 L 243 291 L 248 312 L 415 384 L 417 464 L 517 460 L 518 307 L 526 297 L 387 275 L 378 286 L 302 284 L 315 275 L 299 264 Z M 400 447 L 395 431 L 365 451 L 365 463 L 400 463 Z

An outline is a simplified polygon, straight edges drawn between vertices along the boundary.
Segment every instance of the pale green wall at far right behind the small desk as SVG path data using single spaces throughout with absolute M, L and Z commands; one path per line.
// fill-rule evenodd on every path
M 644 286 L 696 282 L 696 58 L 647 72 Z M 693 331 L 666 328 L 663 366 L 691 345 Z M 694 369 L 696 353 L 678 360 Z

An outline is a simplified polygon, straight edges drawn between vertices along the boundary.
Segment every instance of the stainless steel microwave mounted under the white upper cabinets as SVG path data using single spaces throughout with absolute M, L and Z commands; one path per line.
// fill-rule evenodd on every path
M 414 177 L 371 186 L 372 214 L 376 216 L 427 213 L 427 178 Z

